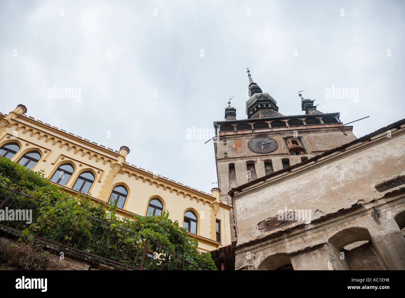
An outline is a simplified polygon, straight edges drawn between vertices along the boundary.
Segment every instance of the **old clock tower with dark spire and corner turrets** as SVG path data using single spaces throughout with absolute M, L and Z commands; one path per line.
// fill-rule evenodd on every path
M 220 199 L 230 206 L 228 192 L 232 188 L 356 139 L 353 126 L 343 126 L 340 113 L 322 113 L 313 105 L 314 100 L 304 99 L 301 93 L 301 111 L 305 114 L 279 113 L 275 99 L 262 92 L 249 70 L 247 73 L 247 119 L 237 120 L 236 109 L 229 106 L 225 108 L 224 121 L 214 122 L 219 135 L 214 148 Z M 232 209 L 230 225 L 232 242 L 236 242 Z

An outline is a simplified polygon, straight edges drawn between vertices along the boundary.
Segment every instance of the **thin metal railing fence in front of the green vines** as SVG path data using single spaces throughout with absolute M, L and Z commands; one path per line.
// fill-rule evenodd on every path
M 55 212 L 49 217 L 41 217 L 46 225 L 36 225 L 44 208 L 55 207 L 17 191 L 0 186 L 0 210 L 6 216 L 0 225 L 23 231 L 30 228 L 30 234 L 40 240 L 56 244 L 66 250 L 83 253 L 131 270 L 200 270 L 198 266 L 171 251 L 159 240 L 144 238 L 140 232 L 123 229 L 106 221 L 85 217 L 72 229 L 70 218 Z M 9 217 L 7 210 L 13 210 Z M 27 223 L 27 214 L 32 216 Z M 55 210 L 57 210 L 55 208 Z M 17 214 L 17 212 L 19 212 Z M 43 228 L 45 226 L 45 228 Z

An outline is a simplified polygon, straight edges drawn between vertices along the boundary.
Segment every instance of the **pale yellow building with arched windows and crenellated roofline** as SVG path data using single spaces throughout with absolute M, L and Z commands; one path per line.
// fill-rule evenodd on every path
M 192 189 L 134 165 L 125 159 L 130 149 L 119 151 L 67 133 L 25 115 L 18 105 L 8 115 L 0 113 L 0 154 L 33 171 L 43 170 L 49 180 L 66 192 L 90 193 L 94 202 L 117 201 L 117 214 L 159 215 L 188 228 L 201 251 L 231 244 L 230 206 L 212 195 Z

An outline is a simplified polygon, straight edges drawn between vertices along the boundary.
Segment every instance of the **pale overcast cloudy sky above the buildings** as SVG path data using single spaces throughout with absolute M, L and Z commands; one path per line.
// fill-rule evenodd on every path
M 350 124 L 357 137 L 405 118 L 404 12 L 404 1 L 0 0 L 0 111 L 22 103 L 209 193 L 213 141 L 186 132 L 212 129 L 232 96 L 247 118 L 246 68 L 284 115 L 301 113 L 305 90 L 343 123 L 370 116 Z

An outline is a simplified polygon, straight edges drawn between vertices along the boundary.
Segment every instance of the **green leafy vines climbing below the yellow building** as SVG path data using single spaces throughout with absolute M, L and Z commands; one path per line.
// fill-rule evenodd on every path
M 43 173 L 30 171 L 5 157 L 0 157 L 0 185 L 17 188 L 21 193 L 40 200 L 16 194 L 8 203 L 9 208 L 32 209 L 35 220 L 31 224 L 7 223 L 23 230 L 22 242 L 36 235 L 127 266 L 139 267 L 149 239 L 144 262 L 146 269 L 195 269 L 175 253 L 201 269 L 216 270 L 211 255 L 199 252 L 197 240 L 190 238 L 177 221 L 171 221 L 168 212 L 158 217 L 128 214 L 132 219 L 119 219 L 116 205 L 111 205 L 106 212 L 103 204 L 95 204 L 89 196 L 79 194 L 72 197 L 50 183 Z M 5 196 L 6 193 L 0 193 L 0 200 Z

